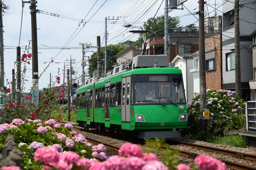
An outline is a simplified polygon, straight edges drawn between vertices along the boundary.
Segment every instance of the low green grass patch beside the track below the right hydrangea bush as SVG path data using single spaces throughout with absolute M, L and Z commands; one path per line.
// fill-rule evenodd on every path
M 228 135 L 224 137 L 212 138 L 206 140 L 208 143 L 231 145 L 239 148 L 246 148 L 246 143 L 244 142 L 241 135 Z

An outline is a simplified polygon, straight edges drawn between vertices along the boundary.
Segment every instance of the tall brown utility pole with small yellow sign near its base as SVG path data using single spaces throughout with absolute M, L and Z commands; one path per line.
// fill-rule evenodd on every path
M 205 131 L 207 120 L 204 112 L 207 109 L 206 103 L 206 78 L 205 78 L 205 24 L 204 24 L 204 1 L 199 1 L 199 80 L 200 80 L 200 125 L 201 130 Z M 209 117 L 209 115 L 208 115 Z

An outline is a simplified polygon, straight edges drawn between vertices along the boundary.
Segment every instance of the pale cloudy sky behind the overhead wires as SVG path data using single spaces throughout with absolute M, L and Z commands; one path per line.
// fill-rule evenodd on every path
M 2 0 L 2 2 L 8 6 L 8 9 L 4 9 L 3 12 L 4 79 L 5 86 L 8 87 L 6 79 L 11 81 L 12 69 L 15 69 L 15 72 L 17 70 L 16 47 L 20 46 L 23 54 L 25 46 L 28 46 L 31 41 L 31 14 L 30 3 L 24 3 L 23 7 L 20 0 Z M 222 15 L 220 12 L 222 0 L 208 0 L 206 3 L 206 17 L 214 16 L 215 8 L 217 8 L 217 15 Z M 81 85 L 82 45 L 80 44 L 93 46 L 85 48 L 85 56 L 91 56 L 97 51 L 95 48 L 97 36 L 101 38 L 101 47 L 105 46 L 105 17 L 107 17 L 107 44 L 118 44 L 127 40 L 136 41 L 138 34 L 127 31 L 138 30 L 149 18 L 164 15 L 165 2 L 164 0 L 37 0 L 36 5 L 36 9 L 39 10 L 36 14 L 38 72 L 39 75 L 43 73 L 39 78 L 39 89 L 43 89 L 49 87 L 50 74 L 52 81 L 59 76 L 60 82 L 63 83 L 64 62 L 66 69 L 70 69 L 70 60 L 75 70 L 72 78 L 77 77 L 76 82 L 79 80 Z M 198 15 L 192 15 L 198 11 L 198 6 L 198 1 L 187 0 L 183 6 L 178 7 L 183 7 L 183 10 L 175 9 L 168 15 L 179 17 L 180 26 L 191 23 L 198 26 Z M 132 27 L 124 27 L 128 24 Z M 29 52 L 32 53 L 32 49 L 29 49 Z M 26 65 L 25 79 L 28 81 L 25 84 L 25 92 L 28 92 L 32 86 L 32 61 L 30 63 Z M 88 71 L 87 68 L 88 66 L 85 66 L 84 70 Z

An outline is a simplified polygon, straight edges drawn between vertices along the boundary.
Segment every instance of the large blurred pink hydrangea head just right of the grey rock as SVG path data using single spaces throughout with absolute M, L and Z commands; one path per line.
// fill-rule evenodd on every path
M 59 162 L 59 156 L 59 152 L 56 149 L 48 147 L 39 148 L 34 153 L 35 160 L 40 161 L 46 165 L 49 163 Z

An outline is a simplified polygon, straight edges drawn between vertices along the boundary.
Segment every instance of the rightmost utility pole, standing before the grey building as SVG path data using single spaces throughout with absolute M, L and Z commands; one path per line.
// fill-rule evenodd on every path
M 240 28 L 239 28 L 239 2 L 235 0 L 235 74 L 236 74 L 236 95 L 242 98 L 241 92 L 241 62 L 240 62 Z

